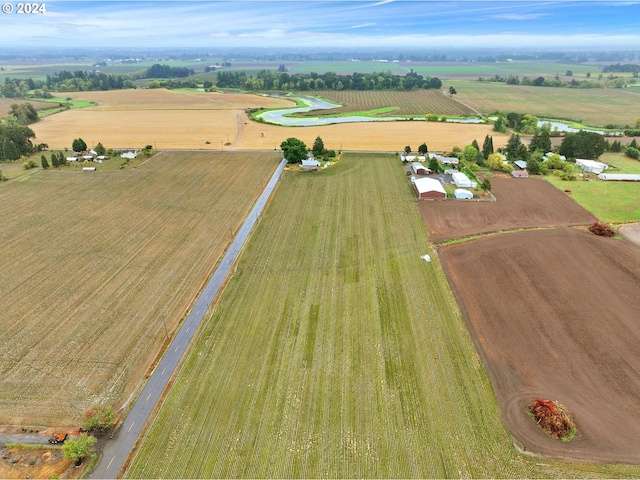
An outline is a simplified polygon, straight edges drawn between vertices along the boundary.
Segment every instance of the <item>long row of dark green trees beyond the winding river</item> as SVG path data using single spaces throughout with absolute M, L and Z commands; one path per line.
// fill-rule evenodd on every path
M 262 70 L 247 76 L 245 72 L 218 72 L 218 88 L 241 88 L 244 90 L 414 90 L 420 88 L 440 88 L 442 82 L 437 77 L 424 77 L 413 70 L 408 74 L 394 75 L 391 72 L 353 73 L 337 75 L 333 72 L 296 73 Z

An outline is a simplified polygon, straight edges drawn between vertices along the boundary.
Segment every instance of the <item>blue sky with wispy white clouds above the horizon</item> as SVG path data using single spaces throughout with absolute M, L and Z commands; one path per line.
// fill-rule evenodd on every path
M 640 1 L 51 1 L 31 15 L 6 3 L 10 48 L 640 47 Z

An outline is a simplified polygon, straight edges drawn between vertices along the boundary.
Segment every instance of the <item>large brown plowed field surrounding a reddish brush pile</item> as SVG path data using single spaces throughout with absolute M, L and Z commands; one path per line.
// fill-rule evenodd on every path
M 640 249 L 562 228 L 439 255 L 516 441 L 555 458 L 640 463 Z M 564 404 L 577 436 L 542 433 L 525 412 L 535 398 Z

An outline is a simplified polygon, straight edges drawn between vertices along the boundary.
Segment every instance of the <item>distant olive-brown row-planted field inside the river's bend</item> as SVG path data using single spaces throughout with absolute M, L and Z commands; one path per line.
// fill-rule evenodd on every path
M 475 114 L 469 107 L 444 95 L 440 90 L 413 90 L 410 92 L 395 90 L 327 90 L 309 93 L 345 105 L 341 108 L 323 110 L 321 112 L 323 115 L 363 112 L 382 107 L 397 108 L 382 116 L 416 115 L 423 118 L 428 113 L 450 116 Z M 317 112 L 312 112 L 310 115 L 317 115 Z

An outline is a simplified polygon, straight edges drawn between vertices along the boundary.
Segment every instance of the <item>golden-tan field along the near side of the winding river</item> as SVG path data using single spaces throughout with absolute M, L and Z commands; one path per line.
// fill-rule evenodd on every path
M 291 106 L 287 100 L 257 95 L 181 93 L 168 90 L 82 92 L 72 98 L 98 102 L 98 106 L 68 110 L 32 125 L 37 141 L 51 148 L 71 148 L 81 137 L 92 147 L 133 148 L 154 145 L 157 149 L 275 150 L 288 137 L 309 147 L 320 135 L 325 147 L 334 150 L 417 150 L 426 142 L 432 151 L 463 148 L 473 140 L 493 136 L 495 148 L 508 137 L 488 125 L 422 121 L 355 123 L 323 127 L 280 127 L 251 121 L 251 107 Z M 209 143 L 207 143 L 209 142 Z M 229 143 L 230 145 L 226 145 Z

